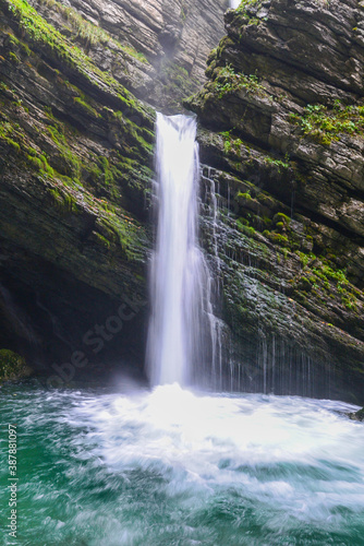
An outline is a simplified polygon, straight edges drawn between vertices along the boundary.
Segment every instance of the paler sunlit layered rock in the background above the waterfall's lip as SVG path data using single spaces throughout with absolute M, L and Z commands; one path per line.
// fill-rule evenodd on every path
M 223 35 L 227 8 L 226 0 L 31 3 L 138 98 L 170 111 L 180 110 L 181 99 L 205 81 L 206 58 Z

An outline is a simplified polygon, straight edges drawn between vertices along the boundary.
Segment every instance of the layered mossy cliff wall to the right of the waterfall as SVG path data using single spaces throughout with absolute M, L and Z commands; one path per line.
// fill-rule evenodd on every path
M 253 390 L 281 392 L 283 360 L 303 378 L 308 358 L 314 395 L 363 401 L 363 14 L 350 0 L 243 1 L 185 100 L 214 131 L 199 141 L 225 203 L 215 268 Z

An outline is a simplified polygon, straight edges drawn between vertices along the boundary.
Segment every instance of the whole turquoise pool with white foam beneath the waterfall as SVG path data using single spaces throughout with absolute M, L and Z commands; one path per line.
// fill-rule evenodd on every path
M 177 385 L 4 387 L 1 456 L 16 423 L 19 534 L 2 530 L 0 544 L 362 546 L 364 428 L 342 415 L 352 410 Z

